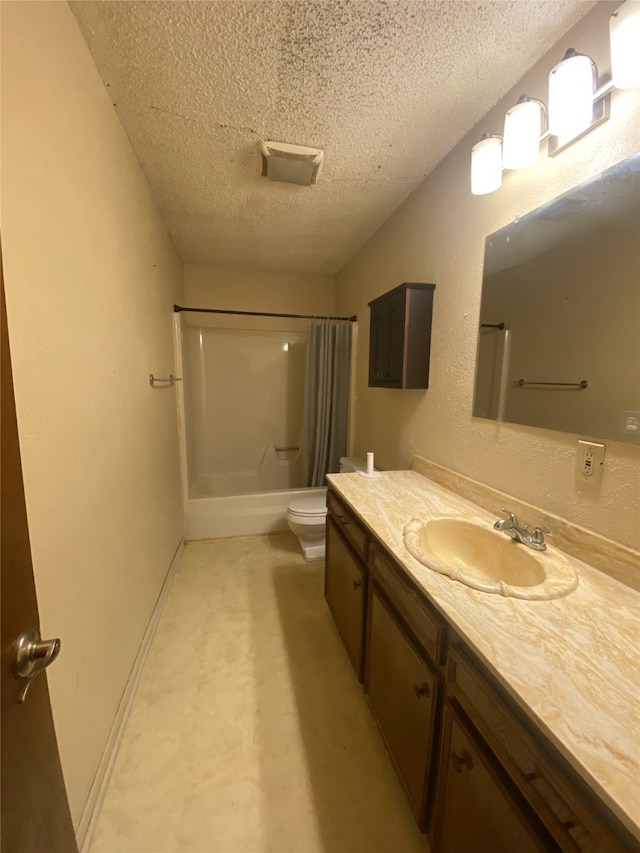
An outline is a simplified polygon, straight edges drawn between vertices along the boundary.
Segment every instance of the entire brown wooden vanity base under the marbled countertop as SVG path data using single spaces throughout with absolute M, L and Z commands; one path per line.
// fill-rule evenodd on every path
M 327 505 L 325 596 L 432 853 L 640 853 L 357 513 Z

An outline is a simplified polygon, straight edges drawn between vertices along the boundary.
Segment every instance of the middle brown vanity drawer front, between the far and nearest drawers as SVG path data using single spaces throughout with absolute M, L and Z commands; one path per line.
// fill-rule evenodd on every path
M 369 571 L 431 660 L 437 665 L 443 663 L 444 622 L 431 610 L 411 582 L 405 579 L 404 571 L 375 542 L 371 544 L 369 553 Z

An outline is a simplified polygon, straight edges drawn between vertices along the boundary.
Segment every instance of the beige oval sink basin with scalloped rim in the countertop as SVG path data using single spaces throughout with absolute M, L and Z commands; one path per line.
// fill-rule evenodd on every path
M 557 552 L 534 551 L 462 518 L 415 518 L 404 528 L 404 544 L 423 565 L 483 592 L 551 599 L 578 585 L 574 569 Z

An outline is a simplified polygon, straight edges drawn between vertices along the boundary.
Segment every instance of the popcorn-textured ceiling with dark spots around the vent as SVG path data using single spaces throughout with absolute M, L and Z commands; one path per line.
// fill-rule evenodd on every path
M 339 270 L 584 0 L 79 0 L 182 260 Z M 312 187 L 259 140 L 325 150 Z

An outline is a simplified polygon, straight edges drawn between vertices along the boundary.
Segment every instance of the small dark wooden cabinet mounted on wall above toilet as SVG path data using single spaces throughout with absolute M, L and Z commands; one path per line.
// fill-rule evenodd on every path
M 405 282 L 369 303 L 369 385 L 428 388 L 435 284 Z

